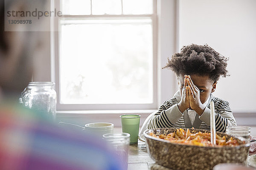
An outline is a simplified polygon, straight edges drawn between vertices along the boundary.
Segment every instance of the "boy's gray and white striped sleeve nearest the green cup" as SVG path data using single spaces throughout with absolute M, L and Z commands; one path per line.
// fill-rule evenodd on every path
M 177 102 L 166 101 L 160 106 L 158 112 L 150 119 L 147 128 L 173 127 L 174 124 L 183 116 Z

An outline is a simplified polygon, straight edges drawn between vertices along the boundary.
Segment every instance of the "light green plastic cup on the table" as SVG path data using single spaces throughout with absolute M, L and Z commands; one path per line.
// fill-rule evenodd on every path
M 122 123 L 122 132 L 130 134 L 130 144 L 138 143 L 140 115 L 123 114 L 120 118 Z

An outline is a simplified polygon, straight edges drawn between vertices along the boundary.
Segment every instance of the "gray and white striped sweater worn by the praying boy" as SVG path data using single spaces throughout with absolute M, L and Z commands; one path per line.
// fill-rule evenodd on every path
M 229 125 L 236 125 L 236 119 L 230 109 L 229 103 L 210 94 L 207 107 L 201 116 L 196 114 L 193 125 L 190 122 L 187 110 L 180 112 L 177 103 L 180 102 L 180 93 L 177 91 L 172 99 L 166 100 L 159 110 L 149 120 L 147 128 L 160 127 L 194 127 L 196 129 L 210 130 L 210 102 L 214 102 L 216 131 L 225 132 Z

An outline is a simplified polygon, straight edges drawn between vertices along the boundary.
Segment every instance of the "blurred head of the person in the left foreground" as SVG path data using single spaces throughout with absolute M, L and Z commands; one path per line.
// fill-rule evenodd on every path
M 19 10 L 14 1 L 6 0 L 12 10 Z M 11 8 L 11 7 L 10 7 Z M 4 0 L 0 4 L 0 96 L 13 96 L 20 94 L 32 77 L 31 45 L 36 39 L 35 33 L 24 31 L 5 31 L 4 26 Z M 13 24 L 17 27 L 17 24 Z M 38 40 L 37 40 L 38 41 Z M 33 49 L 36 50 L 36 49 Z

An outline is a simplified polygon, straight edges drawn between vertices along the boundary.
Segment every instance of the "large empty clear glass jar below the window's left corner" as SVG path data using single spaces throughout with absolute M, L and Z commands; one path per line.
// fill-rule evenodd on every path
M 57 95 L 54 85 L 54 82 L 29 82 L 21 94 L 23 106 L 47 113 L 55 119 Z

